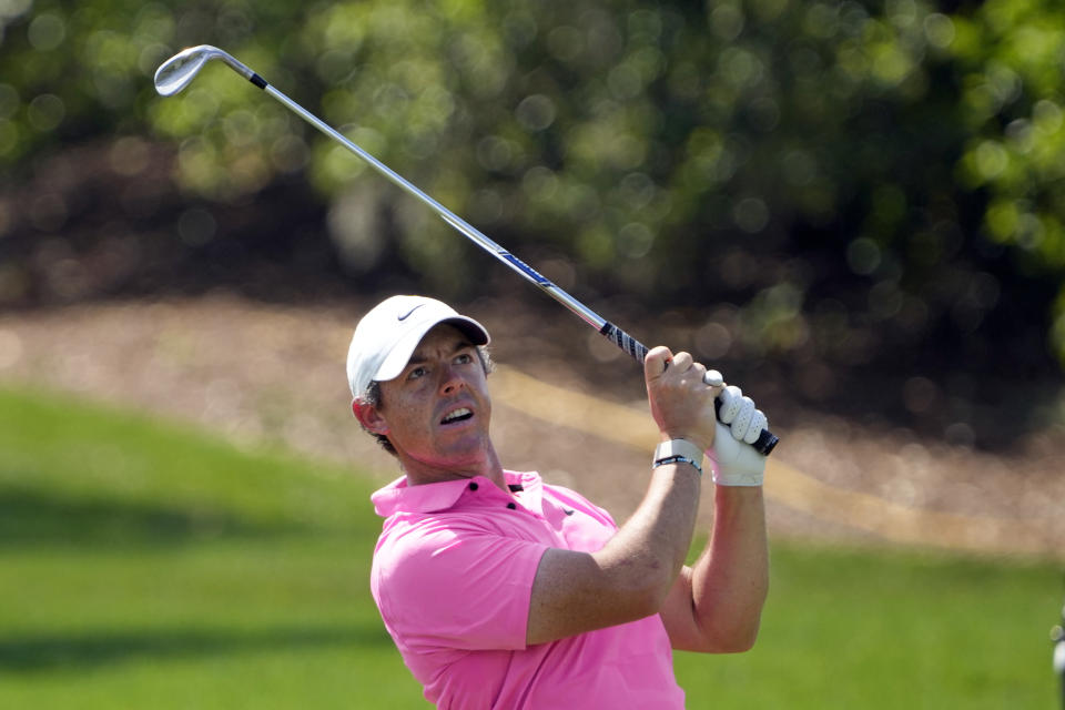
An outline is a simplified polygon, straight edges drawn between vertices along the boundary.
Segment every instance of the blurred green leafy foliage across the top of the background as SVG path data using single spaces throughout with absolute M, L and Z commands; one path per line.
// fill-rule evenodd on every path
M 1065 362 L 1058 0 L 0 0 L 0 28 L 12 180 L 100 138 L 135 175 L 162 141 L 209 206 L 308 180 L 348 274 L 498 268 L 233 72 L 155 95 L 211 43 L 562 287 L 703 308 L 704 355 L 812 399 L 895 367 L 920 414 Z

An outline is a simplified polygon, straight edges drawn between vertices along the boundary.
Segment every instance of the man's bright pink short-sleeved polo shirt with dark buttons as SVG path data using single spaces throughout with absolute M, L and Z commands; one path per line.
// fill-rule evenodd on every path
M 658 615 L 526 646 L 548 548 L 596 551 L 605 510 L 534 473 L 407 486 L 372 497 L 385 518 L 371 590 L 403 660 L 439 708 L 683 708 Z

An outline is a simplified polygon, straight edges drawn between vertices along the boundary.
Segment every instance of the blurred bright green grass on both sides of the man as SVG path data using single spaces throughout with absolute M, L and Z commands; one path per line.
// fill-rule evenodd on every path
M 0 389 L 0 707 L 426 707 L 368 592 L 373 488 Z M 1051 708 L 1061 592 L 1045 561 L 774 542 L 758 646 L 678 678 L 689 708 Z

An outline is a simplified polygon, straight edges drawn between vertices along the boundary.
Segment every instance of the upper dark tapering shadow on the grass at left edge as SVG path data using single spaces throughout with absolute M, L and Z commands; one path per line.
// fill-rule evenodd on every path
M 304 531 L 285 523 L 242 519 L 216 508 L 182 508 L 39 490 L 0 491 L 0 548 L 36 545 L 130 547 L 221 537 L 271 538 Z

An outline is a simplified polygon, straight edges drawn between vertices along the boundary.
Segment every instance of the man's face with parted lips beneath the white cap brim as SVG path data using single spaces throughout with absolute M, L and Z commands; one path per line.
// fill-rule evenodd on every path
M 454 326 L 435 326 L 399 376 L 381 383 L 375 415 L 371 428 L 388 437 L 417 483 L 477 475 L 486 457 L 495 456 L 484 365 Z

